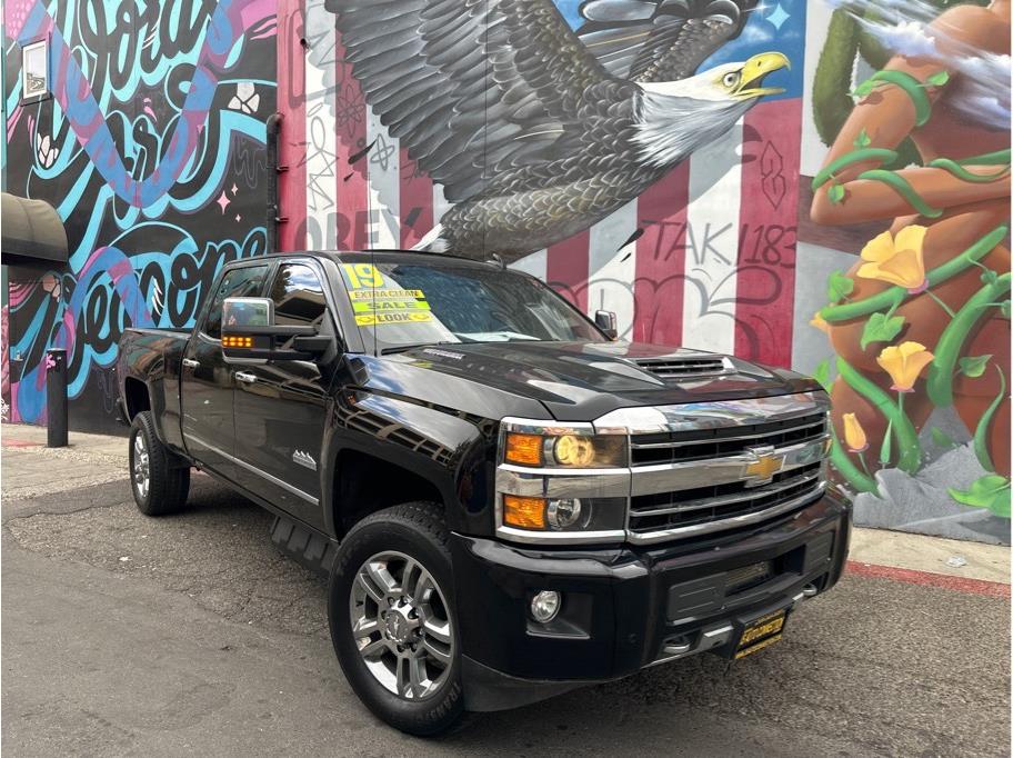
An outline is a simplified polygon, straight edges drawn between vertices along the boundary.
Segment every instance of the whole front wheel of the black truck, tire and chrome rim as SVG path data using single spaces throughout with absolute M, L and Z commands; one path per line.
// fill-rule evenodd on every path
M 373 714 L 419 736 L 464 710 L 447 540 L 434 505 L 395 506 L 349 532 L 331 571 L 331 640 L 349 684 Z

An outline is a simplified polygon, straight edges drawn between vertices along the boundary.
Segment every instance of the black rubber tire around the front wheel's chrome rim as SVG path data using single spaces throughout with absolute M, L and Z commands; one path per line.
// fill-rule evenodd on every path
M 412 700 L 384 688 L 370 672 L 352 635 L 352 597 L 357 575 L 378 553 L 402 553 L 417 561 L 435 581 L 441 614 L 450 624 L 451 662 L 445 679 L 430 695 Z M 407 570 L 405 570 L 407 572 Z M 403 579 L 408 584 L 407 579 Z M 401 731 L 420 737 L 450 729 L 464 712 L 461 685 L 460 631 L 453 608 L 453 572 L 448 531 L 441 509 L 430 502 L 409 502 L 368 516 L 349 532 L 338 549 L 328 600 L 328 621 L 334 652 L 355 695 L 374 715 Z M 377 632 L 382 636 L 382 632 Z M 400 649 L 400 648 L 399 648 Z M 400 670 L 400 669 L 399 669 Z

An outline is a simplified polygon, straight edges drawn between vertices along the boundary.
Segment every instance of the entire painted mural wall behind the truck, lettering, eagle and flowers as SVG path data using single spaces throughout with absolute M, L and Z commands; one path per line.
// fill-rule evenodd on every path
M 225 260 L 497 257 L 623 338 L 833 391 L 860 522 L 1009 541 L 1004 0 L 21 0 L 8 191 L 66 270 L 10 271 L 3 393 L 109 426 L 128 323 L 185 327 Z M 52 97 L 22 103 L 20 44 Z M 277 63 L 275 63 L 277 58 Z

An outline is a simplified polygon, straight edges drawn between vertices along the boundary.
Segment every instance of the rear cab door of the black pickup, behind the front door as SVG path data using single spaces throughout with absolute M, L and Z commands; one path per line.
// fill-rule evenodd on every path
M 198 318 L 180 369 L 180 406 L 187 449 L 203 466 L 233 481 L 235 427 L 233 367 L 221 349 L 221 313 L 225 298 L 257 297 L 263 291 L 270 265 L 249 263 L 222 276 Z

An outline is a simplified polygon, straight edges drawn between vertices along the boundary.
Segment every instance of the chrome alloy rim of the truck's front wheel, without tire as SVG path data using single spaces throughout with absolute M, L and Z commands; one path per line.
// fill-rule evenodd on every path
M 408 700 L 450 678 L 454 634 L 432 575 L 402 552 L 379 552 L 355 572 L 349 618 L 359 655 L 384 689 Z

